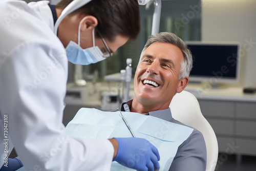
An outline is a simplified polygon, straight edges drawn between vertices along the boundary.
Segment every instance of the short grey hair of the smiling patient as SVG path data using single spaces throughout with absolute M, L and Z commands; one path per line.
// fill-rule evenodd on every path
M 193 68 L 193 56 L 190 50 L 187 48 L 185 42 L 174 33 L 161 32 L 159 34 L 153 34 L 150 37 L 148 37 L 147 42 L 141 52 L 140 59 L 144 52 L 146 51 L 146 49 L 150 45 L 154 44 L 154 42 L 166 42 L 168 44 L 177 46 L 181 50 L 183 54 L 183 60 L 181 62 L 179 80 L 188 77 L 191 69 Z

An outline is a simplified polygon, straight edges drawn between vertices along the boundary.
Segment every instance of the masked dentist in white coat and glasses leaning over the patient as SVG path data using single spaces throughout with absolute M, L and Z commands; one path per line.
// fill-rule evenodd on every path
M 0 19 L 0 166 L 14 146 L 26 170 L 102 171 L 113 160 L 159 167 L 158 150 L 145 139 L 71 138 L 62 124 L 68 60 L 89 65 L 135 39 L 136 0 L 1 0 Z

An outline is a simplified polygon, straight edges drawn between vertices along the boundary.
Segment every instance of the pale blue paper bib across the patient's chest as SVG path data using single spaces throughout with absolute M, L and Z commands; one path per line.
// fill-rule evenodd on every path
M 160 155 L 160 169 L 169 170 L 178 147 L 193 132 L 188 126 L 168 122 L 154 116 L 133 112 L 122 112 L 137 138 L 144 138 L 157 147 Z M 66 127 L 72 137 L 86 139 L 109 139 L 113 137 L 133 137 L 120 111 L 103 112 L 97 109 L 82 108 Z M 112 171 L 135 170 L 112 162 Z

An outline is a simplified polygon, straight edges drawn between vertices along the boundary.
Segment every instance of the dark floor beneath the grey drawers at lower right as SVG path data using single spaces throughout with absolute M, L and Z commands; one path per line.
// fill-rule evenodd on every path
M 256 171 L 256 156 L 242 156 L 241 162 L 237 162 L 236 155 L 219 155 L 216 171 Z

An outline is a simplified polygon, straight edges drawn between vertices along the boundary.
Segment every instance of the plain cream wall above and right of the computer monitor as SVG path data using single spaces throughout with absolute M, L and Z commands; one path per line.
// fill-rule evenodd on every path
M 256 87 L 255 17 L 255 0 L 202 0 L 202 40 L 240 42 L 243 87 Z

